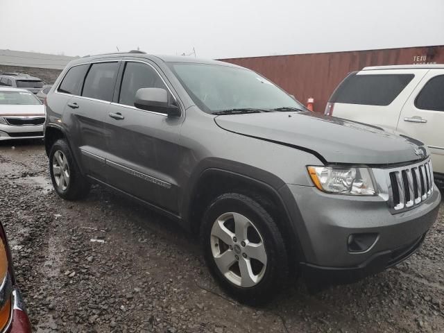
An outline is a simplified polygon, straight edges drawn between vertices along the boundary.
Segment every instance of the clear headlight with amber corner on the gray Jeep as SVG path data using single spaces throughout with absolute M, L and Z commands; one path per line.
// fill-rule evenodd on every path
M 353 196 L 376 194 L 372 172 L 368 168 L 307 167 L 314 185 L 328 193 Z

